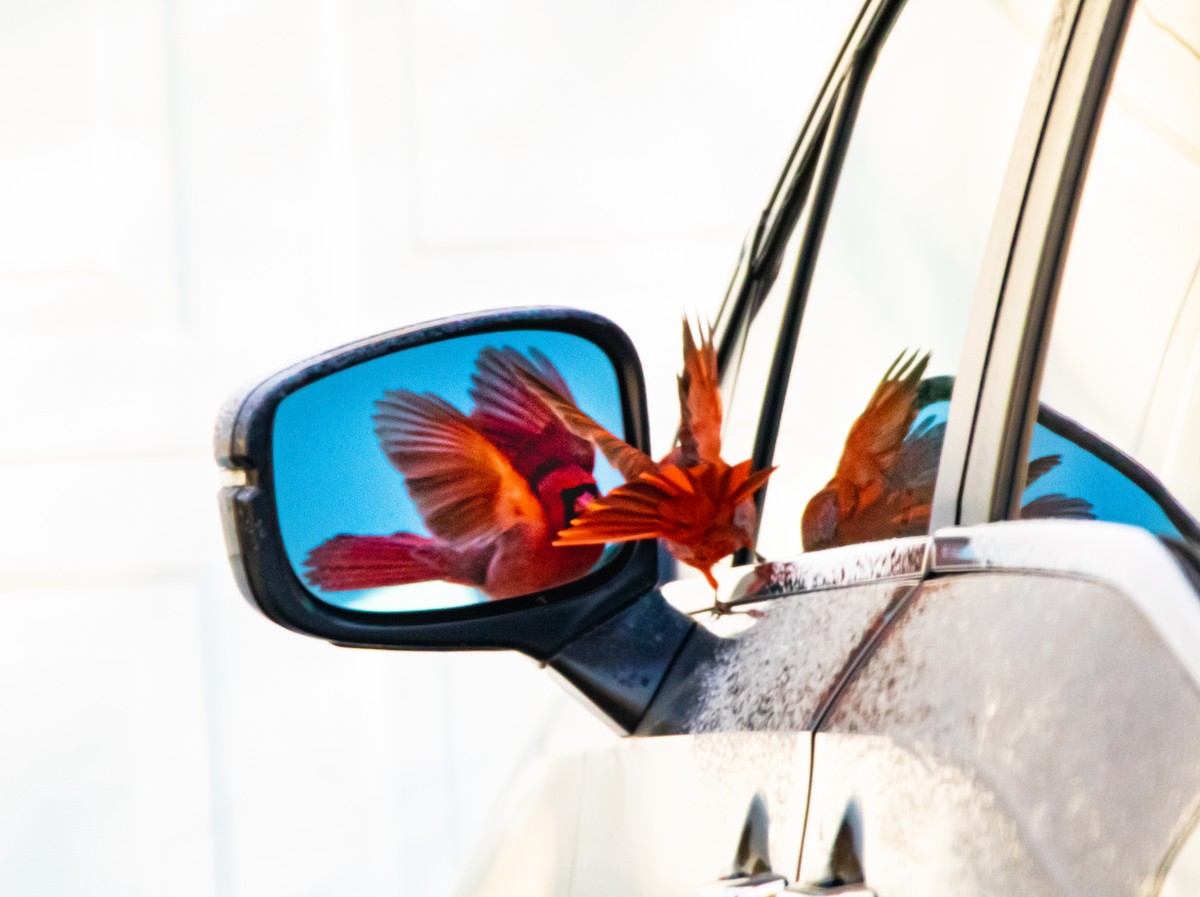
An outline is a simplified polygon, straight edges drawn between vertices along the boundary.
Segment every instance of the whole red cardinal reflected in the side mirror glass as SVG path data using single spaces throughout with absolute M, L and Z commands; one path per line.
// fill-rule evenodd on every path
M 310 584 L 344 591 L 443 579 L 510 598 L 592 568 L 599 546 L 552 541 L 598 495 L 595 451 L 524 386 L 517 372 L 571 395 L 545 355 L 530 349 L 529 359 L 484 349 L 469 416 L 428 393 L 384 393 L 376 435 L 431 535 L 334 536 L 305 560 Z

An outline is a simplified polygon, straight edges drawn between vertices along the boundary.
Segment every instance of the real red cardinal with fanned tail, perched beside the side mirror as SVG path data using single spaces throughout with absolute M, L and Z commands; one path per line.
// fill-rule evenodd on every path
M 700 344 L 683 325 L 679 375 L 679 444 L 655 463 L 583 414 L 544 378 L 522 377 L 578 437 L 594 443 L 628 482 L 593 501 L 556 546 L 589 546 L 661 538 L 678 560 L 696 567 L 715 589 L 713 565 L 738 548 L 754 546 L 754 494 L 770 470 L 750 472 L 750 460 L 721 459 L 721 396 L 712 333 Z

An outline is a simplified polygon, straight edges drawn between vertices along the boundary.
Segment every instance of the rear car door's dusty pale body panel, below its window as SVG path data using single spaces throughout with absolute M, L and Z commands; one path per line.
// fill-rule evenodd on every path
M 1200 801 L 1200 603 L 1141 530 L 941 535 L 814 744 L 800 880 L 851 812 L 878 893 L 1156 893 Z

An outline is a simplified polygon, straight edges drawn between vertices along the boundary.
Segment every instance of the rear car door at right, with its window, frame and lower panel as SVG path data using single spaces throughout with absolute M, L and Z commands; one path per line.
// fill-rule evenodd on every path
M 1001 295 L 982 391 L 950 410 L 972 415 L 943 522 L 970 525 L 936 532 L 820 724 L 815 891 L 1196 883 L 1200 16 L 1063 10 L 1040 148 L 1007 188 L 1020 225 L 980 277 Z

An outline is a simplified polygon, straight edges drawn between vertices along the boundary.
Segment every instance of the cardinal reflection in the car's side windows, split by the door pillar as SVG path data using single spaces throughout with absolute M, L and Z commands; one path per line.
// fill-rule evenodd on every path
M 846 437 L 846 446 L 833 478 L 814 495 L 800 518 L 800 541 L 812 552 L 929 530 L 937 480 L 937 464 L 946 423 L 924 421 L 913 429 L 917 414 L 930 397 L 926 386 L 948 386 L 949 378 L 923 381 L 930 354 L 900 353 L 871 395 L 866 408 Z M 944 384 L 935 384 L 946 380 Z M 948 398 L 948 389 L 943 390 Z M 925 398 L 925 402 L 922 402 Z M 1026 484 L 1056 468 L 1061 456 L 1030 462 Z M 1043 495 L 1021 510 L 1021 517 L 1091 518 L 1084 499 Z

